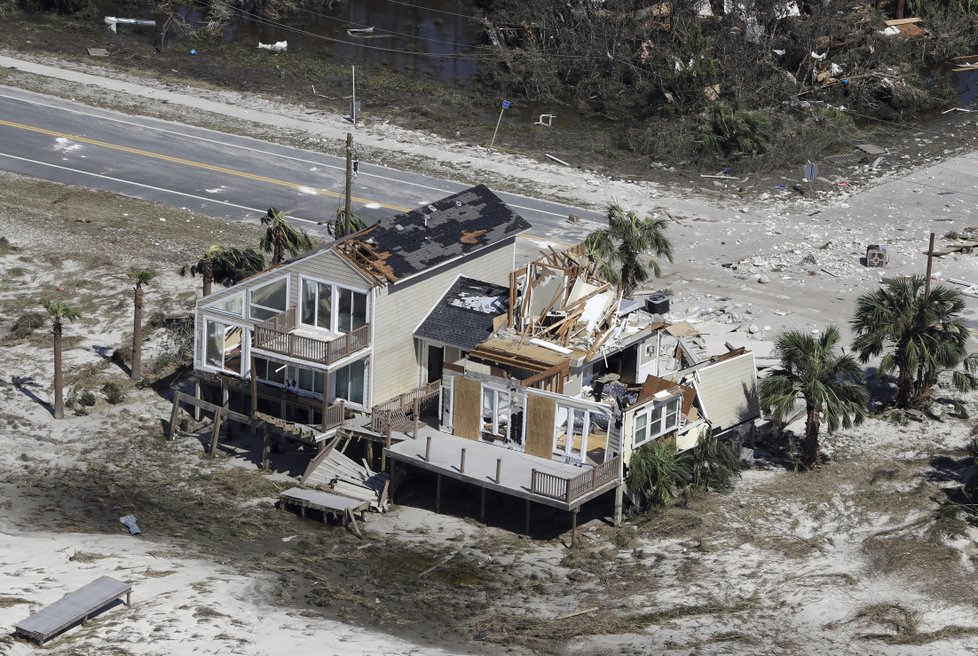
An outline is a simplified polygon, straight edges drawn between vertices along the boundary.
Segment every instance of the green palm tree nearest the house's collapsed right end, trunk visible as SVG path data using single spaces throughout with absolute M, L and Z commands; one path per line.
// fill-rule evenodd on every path
M 776 422 L 794 414 L 799 398 L 805 401 L 802 466 L 809 470 L 821 462 L 818 433 L 823 421 L 832 433 L 866 418 L 869 393 L 863 371 L 851 354 L 836 349 L 839 339 L 836 326 L 820 336 L 799 330 L 782 333 L 774 346 L 781 369 L 760 385 L 761 406 Z

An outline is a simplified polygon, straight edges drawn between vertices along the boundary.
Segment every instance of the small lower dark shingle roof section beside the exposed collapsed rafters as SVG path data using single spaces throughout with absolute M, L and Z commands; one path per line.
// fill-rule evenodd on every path
M 507 310 L 509 290 L 459 278 L 415 331 L 415 337 L 471 351 L 492 334 L 492 320 Z

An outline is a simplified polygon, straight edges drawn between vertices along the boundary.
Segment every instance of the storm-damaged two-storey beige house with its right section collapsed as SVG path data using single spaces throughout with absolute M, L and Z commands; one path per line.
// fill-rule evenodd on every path
M 346 436 L 392 476 L 430 472 L 436 507 L 443 477 L 480 488 L 483 512 L 487 491 L 525 499 L 528 522 L 532 504 L 576 521 L 613 490 L 620 518 L 635 449 L 749 433 L 751 352 L 698 350 L 582 247 L 514 271 L 528 228 L 473 187 L 201 299 L 198 398 L 312 445 Z

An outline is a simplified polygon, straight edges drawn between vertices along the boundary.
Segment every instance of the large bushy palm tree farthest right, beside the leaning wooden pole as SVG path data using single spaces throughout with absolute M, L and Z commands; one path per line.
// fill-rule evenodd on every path
M 927 291 L 923 276 L 894 280 L 856 301 L 852 346 L 863 362 L 882 354 L 879 375 L 896 372 L 899 407 L 926 407 L 946 371 L 953 371 L 957 389 L 978 387 L 978 354 L 968 354 L 968 328 L 960 318 L 964 306 L 961 292 L 946 285 Z

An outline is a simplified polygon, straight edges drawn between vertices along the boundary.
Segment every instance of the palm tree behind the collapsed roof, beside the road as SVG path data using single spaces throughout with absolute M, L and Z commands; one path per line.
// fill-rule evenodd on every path
M 651 216 L 640 219 L 634 212 L 625 212 L 620 205 L 612 203 L 608 207 L 608 227 L 589 234 L 584 245 L 588 257 L 598 265 L 605 279 L 617 284 L 623 295 L 631 296 L 648 279 L 648 268 L 656 278 L 662 275 L 656 257 L 665 256 L 672 262 L 672 244 L 665 236 L 665 229 L 665 219 Z M 646 268 L 641 257 L 649 251 L 653 257 Z

